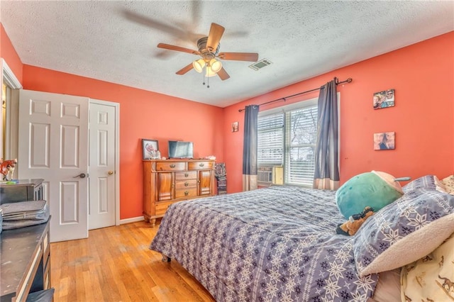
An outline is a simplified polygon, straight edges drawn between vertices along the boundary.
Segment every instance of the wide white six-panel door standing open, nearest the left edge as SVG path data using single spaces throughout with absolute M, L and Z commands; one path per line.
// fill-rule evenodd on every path
M 88 237 L 88 101 L 20 92 L 18 177 L 44 179 L 50 242 Z

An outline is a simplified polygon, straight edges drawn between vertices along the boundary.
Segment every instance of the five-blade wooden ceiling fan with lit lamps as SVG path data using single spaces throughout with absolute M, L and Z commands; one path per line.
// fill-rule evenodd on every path
M 222 62 L 216 60 L 216 57 L 221 60 L 233 61 L 249 61 L 257 62 L 258 53 L 255 52 L 219 52 L 219 41 L 224 33 L 225 28 L 216 23 L 211 23 L 209 35 L 207 37 L 197 40 L 197 47 L 199 50 L 191 50 L 189 48 L 159 43 L 157 47 L 167 50 L 175 50 L 180 52 L 187 52 L 193 55 L 199 55 L 201 59 L 195 60 L 189 65 L 179 69 L 177 74 L 182 75 L 195 69 L 196 72 L 204 72 L 206 77 L 213 77 L 216 74 L 222 80 L 228 79 L 230 76 L 222 67 Z

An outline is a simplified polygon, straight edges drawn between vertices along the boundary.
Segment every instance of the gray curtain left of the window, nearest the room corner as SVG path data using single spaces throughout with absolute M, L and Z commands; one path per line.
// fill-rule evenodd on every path
M 245 107 L 243 139 L 243 191 L 257 189 L 258 105 Z

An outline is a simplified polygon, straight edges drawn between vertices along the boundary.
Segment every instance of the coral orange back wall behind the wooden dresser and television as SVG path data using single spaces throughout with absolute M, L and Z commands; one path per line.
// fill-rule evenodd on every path
M 167 140 L 187 140 L 194 142 L 195 158 L 223 160 L 223 138 L 217 132 L 222 108 L 29 65 L 23 66 L 23 88 L 120 104 L 121 219 L 142 215 L 141 138 L 158 140 L 165 157 Z

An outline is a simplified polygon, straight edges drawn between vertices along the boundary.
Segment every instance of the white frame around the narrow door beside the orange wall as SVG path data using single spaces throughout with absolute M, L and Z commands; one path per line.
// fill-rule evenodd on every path
M 120 104 L 111 101 L 89 99 L 90 104 L 115 107 L 115 225 L 120 225 Z

